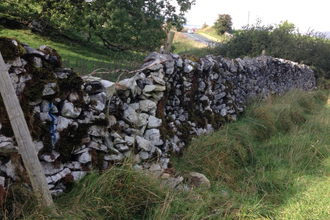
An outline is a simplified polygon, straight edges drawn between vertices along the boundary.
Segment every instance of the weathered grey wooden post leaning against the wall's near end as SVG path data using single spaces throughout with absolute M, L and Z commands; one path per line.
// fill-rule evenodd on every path
M 0 92 L 6 107 L 12 129 L 18 144 L 18 152 L 21 154 L 24 166 L 28 172 L 33 191 L 42 208 L 51 208 L 55 213 L 55 206 L 49 192 L 46 177 L 26 124 L 24 114 L 14 86 L 10 80 L 5 62 L 0 53 Z

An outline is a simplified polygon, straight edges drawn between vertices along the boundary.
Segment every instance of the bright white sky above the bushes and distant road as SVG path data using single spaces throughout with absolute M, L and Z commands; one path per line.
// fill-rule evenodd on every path
M 229 14 L 234 29 L 241 29 L 248 21 L 256 24 L 260 18 L 263 25 L 288 20 L 300 32 L 325 32 L 330 31 L 329 12 L 328 0 L 196 0 L 186 18 L 187 24 L 212 26 L 218 14 Z

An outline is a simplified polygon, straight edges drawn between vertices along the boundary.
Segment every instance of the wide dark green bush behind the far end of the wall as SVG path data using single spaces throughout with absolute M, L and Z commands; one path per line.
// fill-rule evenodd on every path
M 275 26 L 264 26 L 259 21 L 220 45 L 215 53 L 230 58 L 256 57 L 263 50 L 269 56 L 310 65 L 317 77 L 330 78 L 330 40 L 312 31 L 299 33 L 287 21 Z

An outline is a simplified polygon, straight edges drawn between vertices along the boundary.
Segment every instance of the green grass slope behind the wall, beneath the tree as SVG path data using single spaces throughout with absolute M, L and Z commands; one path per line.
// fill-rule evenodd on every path
M 14 37 L 35 49 L 47 45 L 57 50 L 63 60 L 63 65 L 73 68 L 80 75 L 92 73 L 95 69 L 137 69 L 147 54 L 134 52 L 112 52 L 101 45 L 91 46 L 73 43 L 68 39 L 54 39 L 32 32 L 30 29 L 8 29 L 0 26 L 0 36 Z M 115 79 L 108 75 L 103 78 Z

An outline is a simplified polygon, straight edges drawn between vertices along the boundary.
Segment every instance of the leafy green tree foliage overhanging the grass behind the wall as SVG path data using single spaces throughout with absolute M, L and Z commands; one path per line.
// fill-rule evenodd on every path
M 13 15 L 26 0 L 4 0 L 6 14 Z M 21 16 L 25 23 L 58 33 L 97 37 L 112 50 L 152 50 L 159 47 L 170 27 L 182 28 L 184 15 L 195 0 L 30 0 L 33 13 Z M 12 5 L 15 6 L 12 7 Z M 10 9 L 11 8 L 11 9 Z M 24 11 L 24 9 L 23 9 Z M 16 16 L 18 17 L 18 16 Z M 33 22 L 32 22 L 33 21 Z M 35 25 L 38 24 L 38 25 Z

